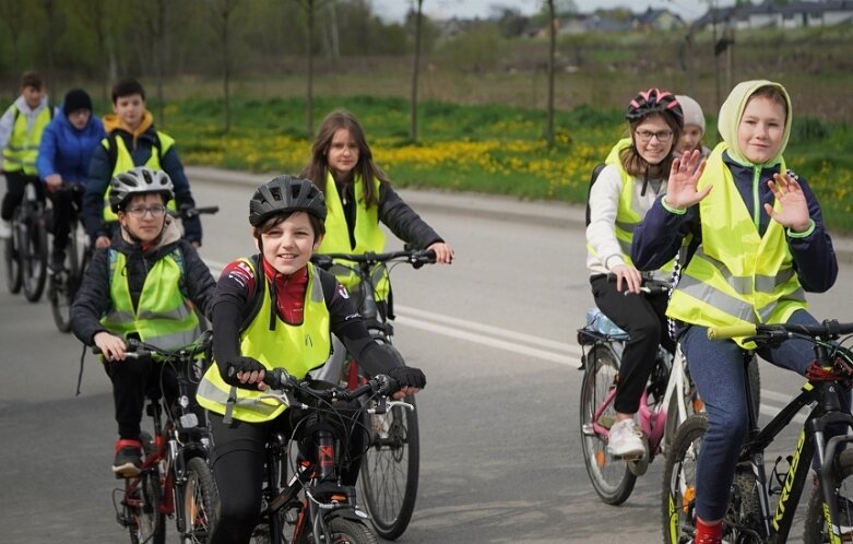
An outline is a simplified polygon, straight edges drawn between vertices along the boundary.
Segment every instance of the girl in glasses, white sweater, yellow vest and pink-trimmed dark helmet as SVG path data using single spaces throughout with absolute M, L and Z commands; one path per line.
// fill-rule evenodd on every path
M 587 267 L 595 305 L 630 340 L 625 345 L 609 429 L 607 451 L 617 458 L 645 453 L 633 421 L 654 366 L 659 343 L 675 345 L 667 334 L 666 296 L 638 296 L 642 280 L 668 279 L 655 271 L 641 274 L 631 263 L 631 238 L 654 200 L 666 192 L 674 143 L 684 128 L 682 106 L 672 93 L 650 88 L 639 93 L 625 114 L 629 137 L 611 151 L 590 188 Z M 625 296 L 629 295 L 629 296 Z

